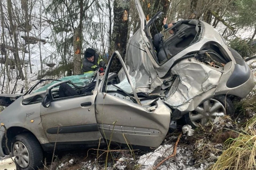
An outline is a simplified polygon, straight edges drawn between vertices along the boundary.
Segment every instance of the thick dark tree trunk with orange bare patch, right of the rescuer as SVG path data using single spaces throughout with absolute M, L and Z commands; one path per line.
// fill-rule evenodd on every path
M 129 17 L 130 0 L 114 1 L 114 25 L 111 38 L 110 54 L 118 50 L 123 60 L 125 56 L 127 35 L 128 35 L 128 17 Z

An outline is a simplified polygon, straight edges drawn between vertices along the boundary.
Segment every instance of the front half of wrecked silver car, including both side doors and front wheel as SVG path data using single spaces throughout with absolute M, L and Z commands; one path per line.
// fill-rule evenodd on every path
M 114 59 L 125 72 L 122 80 L 110 73 Z M 71 77 L 88 79 L 86 74 Z M 0 156 L 10 151 L 17 166 L 27 170 L 42 165 L 43 151 L 54 148 L 93 147 L 110 141 L 134 148 L 161 145 L 169 130 L 171 110 L 157 95 L 135 92 L 135 80 L 118 52 L 111 56 L 104 77 L 97 72 L 89 79 L 85 86 L 65 80 L 47 85 L 46 90 L 33 91 L 33 86 L 23 95 L 0 95 L 2 104 L 8 105 L 0 115 L 4 126 L 0 129 Z M 60 97 L 62 83 L 79 95 Z M 82 88 L 86 91 L 81 94 Z

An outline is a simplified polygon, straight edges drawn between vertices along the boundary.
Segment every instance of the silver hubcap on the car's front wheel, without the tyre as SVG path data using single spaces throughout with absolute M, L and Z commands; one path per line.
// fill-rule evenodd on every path
M 29 151 L 22 142 L 17 141 L 14 143 L 13 156 L 15 156 L 15 162 L 21 168 L 26 168 L 29 166 Z

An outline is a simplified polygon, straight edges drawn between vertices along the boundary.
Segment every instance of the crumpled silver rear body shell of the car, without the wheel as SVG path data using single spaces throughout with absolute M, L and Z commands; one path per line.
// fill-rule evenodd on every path
M 137 6 L 138 12 L 142 13 L 140 3 Z M 141 20 L 144 19 L 143 15 L 139 16 Z M 157 18 L 158 16 L 155 15 L 154 17 Z M 234 52 L 232 53 L 227 46 L 225 39 L 211 25 L 203 21 L 185 20 L 177 22 L 176 24 L 182 22 L 198 23 L 201 27 L 198 30 L 200 33 L 198 39 L 163 64 L 159 64 L 155 60 L 154 46 L 150 43 L 152 37 L 150 33 L 147 34 L 149 25 L 153 23 L 153 20 L 154 18 L 150 19 L 146 26 L 143 26 L 143 30 L 138 29 L 127 43 L 125 64 L 129 74 L 135 77 L 135 90 L 137 92 L 154 93 L 156 88 L 161 87 L 162 92 L 158 91 L 158 94 L 163 94 L 165 90 L 167 90 L 165 94 L 168 94 L 164 96 L 163 101 L 170 107 L 186 113 L 193 111 L 202 101 L 215 95 L 245 97 L 253 89 L 256 83 L 255 76 L 248 65 L 241 56 L 239 60 L 235 58 L 237 56 L 234 56 Z M 165 43 L 168 41 L 170 38 L 165 40 Z M 215 67 L 207 62 L 203 63 L 195 58 L 192 59 L 193 57 L 185 58 L 188 53 L 201 52 L 209 44 L 218 48 L 218 53 L 224 57 L 227 62 L 224 67 Z M 118 75 L 122 80 L 125 73 L 120 71 Z M 176 82 L 173 80 L 174 77 L 178 77 Z M 236 81 L 238 79 L 243 80 L 243 82 L 238 83 Z M 228 82 L 228 80 L 230 81 Z M 165 87 L 164 82 L 166 81 L 169 85 Z

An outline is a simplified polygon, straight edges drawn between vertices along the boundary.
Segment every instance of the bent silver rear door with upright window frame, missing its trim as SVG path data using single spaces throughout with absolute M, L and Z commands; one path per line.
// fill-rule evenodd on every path
M 126 77 L 116 75 L 117 81 L 107 79 L 110 70 L 118 67 L 118 61 Z M 99 130 L 111 144 L 158 147 L 169 129 L 171 111 L 156 96 L 136 94 L 134 83 L 120 54 L 114 52 L 95 102 Z

